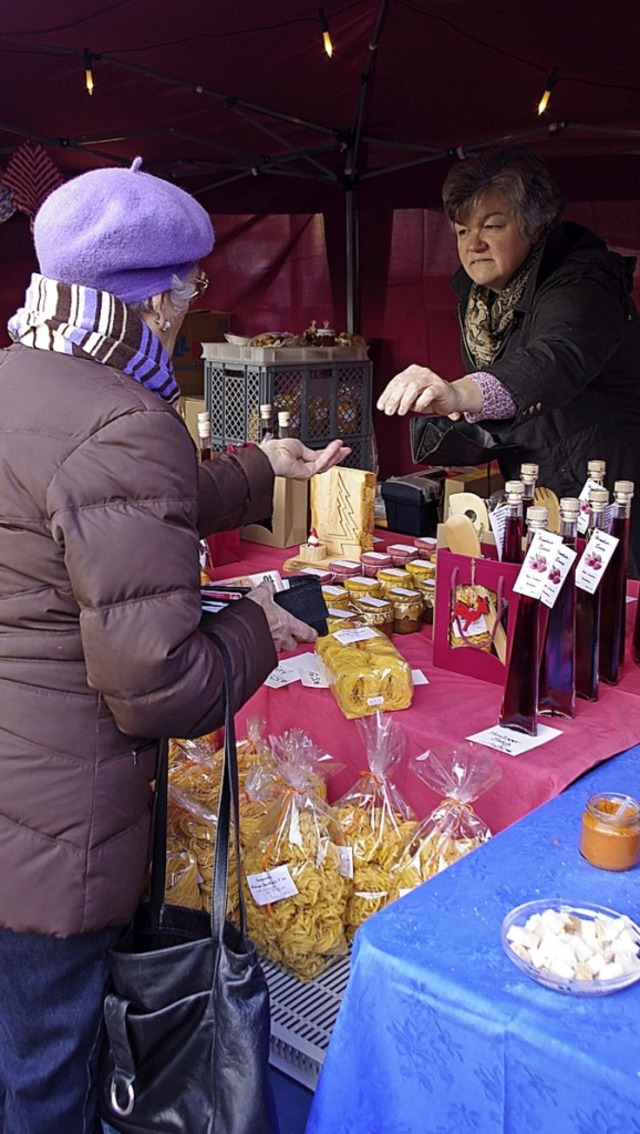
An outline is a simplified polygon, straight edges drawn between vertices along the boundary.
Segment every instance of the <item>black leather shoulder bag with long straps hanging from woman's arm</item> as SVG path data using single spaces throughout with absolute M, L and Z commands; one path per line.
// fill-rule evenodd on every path
M 278 1132 L 268 1067 L 269 989 L 245 937 L 242 886 L 239 928 L 226 919 L 231 810 L 239 872 L 238 781 L 230 661 L 224 643 L 218 637 L 216 643 L 227 701 L 211 915 L 165 905 L 163 742 L 150 899 L 110 950 L 100 1101 L 104 1120 L 123 1134 Z

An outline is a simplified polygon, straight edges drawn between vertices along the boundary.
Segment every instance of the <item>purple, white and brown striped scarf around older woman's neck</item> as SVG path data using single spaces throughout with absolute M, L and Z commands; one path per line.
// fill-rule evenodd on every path
M 15 342 L 37 350 L 93 358 L 123 371 L 165 401 L 180 396 L 171 359 L 160 339 L 115 295 L 61 284 L 34 272 L 9 320 Z

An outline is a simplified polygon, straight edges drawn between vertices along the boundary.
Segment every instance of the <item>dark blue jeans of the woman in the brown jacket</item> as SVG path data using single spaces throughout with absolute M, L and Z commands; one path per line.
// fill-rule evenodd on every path
M 65 939 L 0 929 L 0 1132 L 98 1134 L 107 950 L 121 930 Z

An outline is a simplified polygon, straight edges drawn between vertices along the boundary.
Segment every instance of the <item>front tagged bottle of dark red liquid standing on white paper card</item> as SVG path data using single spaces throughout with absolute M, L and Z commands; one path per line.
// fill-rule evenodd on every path
M 528 508 L 528 547 L 536 532 L 545 531 L 546 526 L 547 509 Z M 498 723 L 530 736 L 538 734 L 540 640 L 540 602 L 530 594 L 519 594 Z

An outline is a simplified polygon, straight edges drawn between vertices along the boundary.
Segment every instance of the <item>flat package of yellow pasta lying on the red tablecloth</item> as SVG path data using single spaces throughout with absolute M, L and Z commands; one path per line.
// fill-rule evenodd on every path
M 318 638 L 315 652 L 350 720 L 411 705 L 411 666 L 376 627 L 334 631 Z

